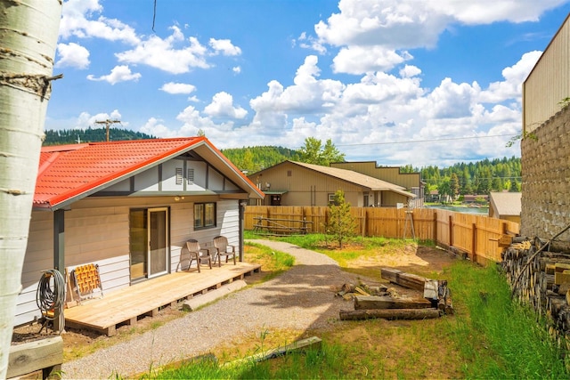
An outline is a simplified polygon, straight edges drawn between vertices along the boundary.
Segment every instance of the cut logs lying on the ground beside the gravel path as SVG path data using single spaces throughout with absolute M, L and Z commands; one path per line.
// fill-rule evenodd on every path
M 353 299 L 354 310 L 340 311 L 341 320 L 431 319 L 453 314 L 451 292 L 446 280 L 426 279 L 389 268 L 382 268 L 381 275 L 396 285 L 416 290 L 417 294 L 404 297 L 387 287 L 345 284 L 337 295 Z

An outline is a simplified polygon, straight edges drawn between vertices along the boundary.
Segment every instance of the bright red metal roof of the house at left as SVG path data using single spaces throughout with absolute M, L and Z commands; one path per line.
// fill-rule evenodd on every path
M 208 144 L 228 166 L 240 171 L 205 137 L 94 142 L 42 148 L 35 207 L 54 207 L 200 145 Z M 240 174 L 248 184 L 248 179 Z M 253 185 L 253 183 L 250 183 Z M 255 187 L 255 186 L 254 186 Z M 263 193 L 262 193 L 263 194 Z M 79 197 L 81 198 L 81 197 Z

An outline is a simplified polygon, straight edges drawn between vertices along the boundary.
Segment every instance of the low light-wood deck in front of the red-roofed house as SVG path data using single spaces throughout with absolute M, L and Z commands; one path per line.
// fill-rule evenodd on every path
M 180 271 L 149 279 L 65 309 L 65 326 L 114 336 L 121 325 L 134 325 L 143 316 L 156 316 L 164 307 L 175 306 L 260 270 L 259 264 L 224 264 L 211 270 L 202 266 L 201 273 Z

